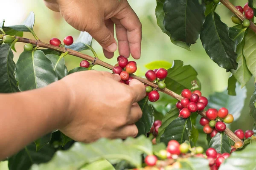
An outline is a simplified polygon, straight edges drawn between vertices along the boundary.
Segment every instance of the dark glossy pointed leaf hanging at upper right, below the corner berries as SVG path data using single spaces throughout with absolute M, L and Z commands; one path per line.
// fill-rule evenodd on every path
M 207 15 L 200 38 L 209 57 L 220 67 L 236 69 L 236 45 L 229 38 L 229 28 L 213 10 Z

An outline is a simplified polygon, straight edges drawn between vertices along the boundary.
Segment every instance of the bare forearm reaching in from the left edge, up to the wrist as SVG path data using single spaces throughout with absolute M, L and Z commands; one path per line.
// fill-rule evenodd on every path
M 0 94 L 0 159 L 65 124 L 69 101 L 64 92 L 55 82 L 37 90 Z

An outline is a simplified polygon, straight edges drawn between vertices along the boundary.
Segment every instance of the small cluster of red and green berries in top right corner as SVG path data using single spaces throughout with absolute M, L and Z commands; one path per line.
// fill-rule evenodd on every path
M 242 8 L 241 6 L 236 6 L 236 9 L 238 9 L 246 17 L 246 19 L 243 20 L 243 26 L 244 27 L 250 26 L 250 19 L 252 19 L 254 16 L 253 9 L 248 6 L 248 3 L 244 5 L 244 8 Z M 233 15 L 231 17 L 231 20 L 235 24 L 242 23 L 242 21 L 236 15 Z

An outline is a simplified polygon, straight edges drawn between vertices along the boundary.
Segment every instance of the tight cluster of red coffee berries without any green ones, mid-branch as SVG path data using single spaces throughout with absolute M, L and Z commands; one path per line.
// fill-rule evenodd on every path
M 176 103 L 176 107 L 180 109 L 179 117 L 183 119 L 189 118 L 192 112 L 203 111 L 208 104 L 206 97 L 202 96 L 201 91 L 196 90 L 193 93 L 189 89 L 184 89 L 181 92 L 184 97 Z

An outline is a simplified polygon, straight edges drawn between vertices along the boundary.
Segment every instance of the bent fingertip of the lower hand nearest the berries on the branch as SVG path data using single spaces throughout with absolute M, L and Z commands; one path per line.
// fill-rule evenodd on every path
M 146 96 L 146 89 L 145 85 L 143 85 L 142 82 L 140 82 L 137 79 L 132 79 L 131 82 L 129 83 L 129 86 L 132 89 L 133 92 L 133 103 L 139 102 L 141 99 L 143 99 Z

